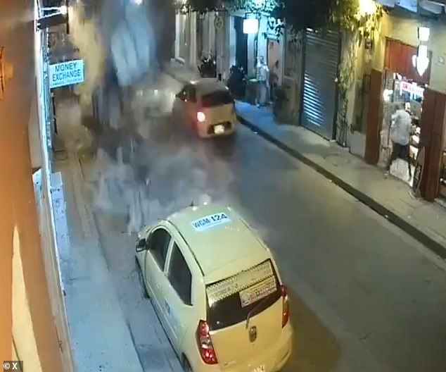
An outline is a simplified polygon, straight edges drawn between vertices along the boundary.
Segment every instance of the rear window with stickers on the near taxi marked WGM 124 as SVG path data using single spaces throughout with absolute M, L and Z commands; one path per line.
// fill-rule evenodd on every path
M 208 324 L 219 330 L 246 321 L 272 306 L 280 297 L 279 279 L 270 259 L 206 286 Z

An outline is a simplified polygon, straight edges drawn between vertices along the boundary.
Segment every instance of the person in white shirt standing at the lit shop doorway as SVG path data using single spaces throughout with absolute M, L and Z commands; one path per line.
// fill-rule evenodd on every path
M 386 171 L 390 171 L 390 166 L 397 159 L 407 161 L 409 177 L 412 178 L 412 168 L 410 168 L 409 142 L 412 129 L 412 119 L 409 113 L 404 110 L 404 104 L 398 104 L 397 111 L 392 116 L 390 125 L 390 140 L 393 143 L 392 154 L 387 163 Z

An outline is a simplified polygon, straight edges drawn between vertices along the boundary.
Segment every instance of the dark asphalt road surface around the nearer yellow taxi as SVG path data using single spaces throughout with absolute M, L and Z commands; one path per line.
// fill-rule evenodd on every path
M 179 88 L 173 80 L 165 86 Z M 180 130 L 177 116 L 143 119 L 148 219 L 208 194 L 234 206 L 274 252 L 291 290 L 295 328 L 283 372 L 446 371 L 444 261 L 246 128 L 234 140 L 198 140 Z M 83 167 L 97 185 L 91 161 Z M 127 209 L 121 212 L 97 210 L 98 231 L 144 368 L 163 370 L 152 358 L 172 353 L 159 349 L 165 336 L 150 306 L 141 306 L 134 237 L 127 235 Z M 158 341 L 149 340 L 153 335 Z

